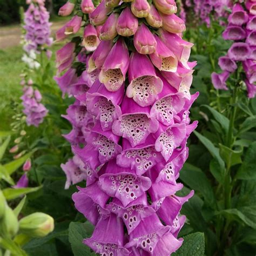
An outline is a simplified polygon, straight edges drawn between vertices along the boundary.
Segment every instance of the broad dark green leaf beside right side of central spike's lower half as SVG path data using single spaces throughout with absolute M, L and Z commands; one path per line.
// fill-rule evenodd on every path
M 196 166 L 185 164 L 180 171 L 179 178 L 193 190 L 201 192 L 208 204 L 215 204 L 215 197 L 210 181 L 205 173 Z

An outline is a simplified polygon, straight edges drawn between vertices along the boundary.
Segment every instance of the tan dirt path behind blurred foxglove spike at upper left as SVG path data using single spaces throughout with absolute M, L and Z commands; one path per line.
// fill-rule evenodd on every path
M 64 25 L 65 22 L 53 22 L 51 26 L 52 36 Z M 16 46 L 21 41 L 21 26 L 6 26 L 0 28 L 0 49 Z

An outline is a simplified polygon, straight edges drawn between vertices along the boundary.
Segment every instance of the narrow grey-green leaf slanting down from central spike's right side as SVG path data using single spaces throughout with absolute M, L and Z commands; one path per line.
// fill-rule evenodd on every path
M 220 175 L 221 175 L 221 178 L 223 179 L 225 163 L 224 163 L 223 159 L 220 157 L 219 149 L 213 145 L 211 140 L 207 139 L 206 137 L 201 135 L 199 132 L 194 131 L 194 134 L 196 134 L 196 136 L 198 137 L 200 142 L 204 144 L 206 149 L 211 153 L 212 157 L 214 157 L 218 161 L 218 163 L 220 165 Z

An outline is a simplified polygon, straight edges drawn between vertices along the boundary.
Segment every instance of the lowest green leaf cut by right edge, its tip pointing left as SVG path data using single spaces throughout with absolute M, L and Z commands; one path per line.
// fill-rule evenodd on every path
M 220 214 L 227 215 L 237 221 L 242 220 L 246 225 L 256 229 L 256 206 L 227 209 L 220 211 Z

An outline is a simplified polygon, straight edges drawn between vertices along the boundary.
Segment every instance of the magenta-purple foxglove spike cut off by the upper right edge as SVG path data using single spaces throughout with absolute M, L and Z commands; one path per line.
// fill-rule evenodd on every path
M 256 1 L 246 1 L 233 6 L 228 25 L 223 32 L 225 40 L 234 41 L 226 56 L 219 58 L 222 73 L 212 73 L 215 89 L 228 90 L 226 81 L 242 64 L 248 98 L 256 95 Z

